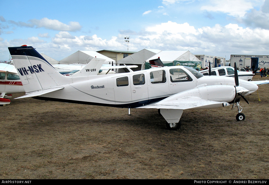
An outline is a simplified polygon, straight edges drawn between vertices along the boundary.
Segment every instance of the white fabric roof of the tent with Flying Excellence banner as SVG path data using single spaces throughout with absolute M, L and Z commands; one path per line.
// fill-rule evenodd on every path
M 146 60 L 146 69 L 147 69 L 147 66 L 149 66 L 149 61 L 153 59 L 157 59 L 158 57 L 160 57 L 162 63 L 164 63 L 164 65 L 167 65 L 167 66 L 173 66 L 174 61 L 201 62 L 190 51 L 161 51 Z

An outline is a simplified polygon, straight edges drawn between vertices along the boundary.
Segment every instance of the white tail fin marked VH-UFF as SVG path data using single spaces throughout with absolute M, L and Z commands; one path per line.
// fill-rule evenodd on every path
M 93 58 L 86 66 L 84 66 L 80 71 L 74 73 L 70 77 L 77 77 L 77 76 L 93 76 L 97 75 L 99 70 L 101 69 L 105 59 L 101 58 Z

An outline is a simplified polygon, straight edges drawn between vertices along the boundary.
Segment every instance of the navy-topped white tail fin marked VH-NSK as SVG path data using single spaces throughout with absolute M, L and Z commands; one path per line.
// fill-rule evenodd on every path
M 8 49 L 26 93 L 64 84 L 66 77 L 61 75 L 33 47 L 23 45 Z

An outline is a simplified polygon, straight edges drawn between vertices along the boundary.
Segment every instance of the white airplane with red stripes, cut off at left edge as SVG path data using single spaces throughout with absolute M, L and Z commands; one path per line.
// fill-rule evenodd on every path
M 17 70 L 13 65 L 0 63 L 0 105 L 10 104 L 13 93 L 25 93 Z

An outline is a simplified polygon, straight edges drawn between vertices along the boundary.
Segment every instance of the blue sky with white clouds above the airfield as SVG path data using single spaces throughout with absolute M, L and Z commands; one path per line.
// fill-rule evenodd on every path
M 230 59 L 269 55 L 269 0 L 0 1 L 0 60 L 28 45 L 76 51 L 160 49 Z

